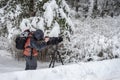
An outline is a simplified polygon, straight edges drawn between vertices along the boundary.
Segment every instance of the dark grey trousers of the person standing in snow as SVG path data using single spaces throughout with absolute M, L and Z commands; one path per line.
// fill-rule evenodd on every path
M 37 59 L 36 57 L 32 56 L 25 56 L 26 60 L 26 68 L 25 70 L 35 70 L 37 68 Z

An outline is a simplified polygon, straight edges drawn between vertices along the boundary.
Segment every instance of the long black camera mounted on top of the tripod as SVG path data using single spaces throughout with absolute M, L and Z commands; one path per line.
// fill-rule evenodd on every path
M 49 41 L 47 42 L 47 45 L 57 45 L 62 41 L 63 41 L 62 37 L 49 37 Z

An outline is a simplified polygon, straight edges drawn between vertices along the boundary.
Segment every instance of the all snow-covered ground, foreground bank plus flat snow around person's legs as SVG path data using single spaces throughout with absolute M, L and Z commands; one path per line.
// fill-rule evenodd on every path
M 41 63 L 37 70 L 24 71 L 24 61 L 15 61 L 6 51 L 0 53 L 5 54 L 0 55 L 1 80 L 120 80 L 120 59 L 79 62 L 55 68 L 47 68 L 48 63 Z

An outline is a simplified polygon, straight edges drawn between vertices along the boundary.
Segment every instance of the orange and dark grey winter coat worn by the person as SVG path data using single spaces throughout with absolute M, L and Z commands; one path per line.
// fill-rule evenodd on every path
M 38 34 L 37 34 L 38 35 Z M 32 55 L 33 56 L 37 56 L 38 55 L 38 51 L 41 51 L 43 48 L 45 48 L 47 46 L 47 43 L 42 41 L 39 42 L 37 41 L 32 35 L 29 35 L 26 43 L 25 43 L 25 49 L 23 51 L 23 54 L 25 56 L 31 56 L 31 50 L 32 50 Z

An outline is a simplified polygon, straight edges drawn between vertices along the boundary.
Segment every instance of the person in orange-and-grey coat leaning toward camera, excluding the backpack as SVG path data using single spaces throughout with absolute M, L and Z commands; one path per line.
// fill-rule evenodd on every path
M 44 33 L 38 29 L 33 33 L 30 33 L 24 46 L 23 54 L 26 60 L 25 70 L 35 70 L 37 68 L 37 50 L 41 50 L 47 46 L 49 38 L 45 38 L 43 41 Z M 41 41 L 42 42 L 39 42 Z

